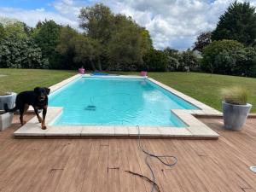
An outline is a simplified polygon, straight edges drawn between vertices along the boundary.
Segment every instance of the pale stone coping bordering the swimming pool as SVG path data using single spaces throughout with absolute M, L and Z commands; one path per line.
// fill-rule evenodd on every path
M 80 77 L 90 77 L 89 74 L 76 74 L 71 78 L 65 79 L 58 84 L 49 87 L 50 93 L 61 89 L 64 85 L 72 82 Z M 124 78 L 124 79 L 148 79 L 154 84 L 160 85 L 165 90 L 171 91 L 172 94 L 181 97 L 183 100 L 200 108 L 198 110 L 172 109 L 170 113 L 174 113 L 177 117 L 188 125 L 187 127 L 162 127 L 162 126 L 140 126 L 140 134 L 142 137 L 186 137 L 186 138 L 218 138 L 218 133 L 212 131 L 207 125 L 203 124 L 195 115 L 222 115 L 218 110 L 207 106 L 202 102 L 198 102 L 190 96 L 172 89 L 166 84 L 162 84 L 155 79 L 133 75 L 119 76 L 96 76 L 95 78 Z M 50 125 L 59 115 L 63 108 L 49 107 L 47 113 L 47 122 L 49 123 L 46 130 L 41 129 L 37 117 L 33 117 L 20 129 L 14 132 L 15 137 L 137 137 L 137 126 L 85 126 L 85 125 Z M 29 108 L 32 112 L 33 109 Z

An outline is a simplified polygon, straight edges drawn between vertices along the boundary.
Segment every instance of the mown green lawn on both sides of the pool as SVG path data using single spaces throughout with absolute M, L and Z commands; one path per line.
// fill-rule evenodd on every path
M 0 90 L 20 92 L 32 90 L 36 86 L 47 87 L 75 73 L 61 70 L 0 69 Z M 222 88 L 232 85 L 245 86 L 251 94 L 249 102 L 253 104 L 252 112 L 256 113 L 256 79 L 207 73 L 148 73 L 148 75 L 218 110 L 221 110 L 220 90 Z

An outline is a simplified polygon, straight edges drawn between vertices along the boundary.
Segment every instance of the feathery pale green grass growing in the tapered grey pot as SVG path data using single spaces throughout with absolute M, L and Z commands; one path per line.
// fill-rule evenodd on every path
M 230 87 L 222 90 L 224 102 L 234 105 L 246 105 L 248 91 L 244 87 Z

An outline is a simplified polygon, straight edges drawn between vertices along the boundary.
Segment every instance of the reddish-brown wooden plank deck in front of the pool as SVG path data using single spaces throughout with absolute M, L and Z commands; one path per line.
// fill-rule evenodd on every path
M 31 117 L 30 117 L 31 118 Z M 223 131 L 221 119 L 201 119 L 218 140 L 143 139 L 148 150 L 172 154 L 177 166 L 151 160 L 160 191 L 256 191 L 256 119 L 243 131 Z M 146 192 L 150 176 L 136 139 L 14 139 L 0 132 L 1 192 Z

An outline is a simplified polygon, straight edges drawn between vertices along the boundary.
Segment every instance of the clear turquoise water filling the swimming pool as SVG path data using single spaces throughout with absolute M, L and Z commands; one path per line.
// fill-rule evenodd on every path
M 49 96 L 53 125 L 186 126 L 171 109 L 197 109 L 148 79 L 79 78 Z

